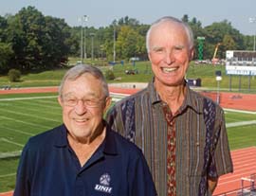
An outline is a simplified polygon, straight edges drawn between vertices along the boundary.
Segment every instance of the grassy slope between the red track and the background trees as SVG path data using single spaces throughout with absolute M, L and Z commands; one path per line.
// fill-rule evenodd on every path
M 112 68 L 115 77 L 119 80 L 108 80 L 108 82 L 148 82 L 152 78 L 152 70 L 150 62 L 136 62 L 135 66 L 131 62 L 125 62 L 124 65 L 117 64 L 115 66 L 99 66 L 102 72 Z M 125 70 L 137 70 L 136 75 L 126 75 Z M 215 79 L 215 71 L 222 72 L 222 80 L 220 81 L 220 90 L 229 91 L 229 76 L 226 75 L 224 65 L 212 64 L 195 64 L 191 62 L 188 70 L 187 79 L 201 79 L 203 87 L 216 90 L 217 82 Z M 40 73 L 29 73 L 23 75 L 19 82 L 9 82 L 7 76 L 0 76 L 0 87 L 10 85 L 11 87 L 31 87 L 31 86 L 56 86 L 59 85 L 60 80 L 64 76 L 66 69 L 49 70 Z M 240 84 L 239 84 L 240 83 Z M 256 79 L 250 78 L 250 87 L 248 86 L 249 80 L 247 76 L 232 76 L 231 77 L 231 90 L 256 93 Z M 240 87 L 239 87 L 240 86 Z M 249 89 L 250 88 L 250 89 Z

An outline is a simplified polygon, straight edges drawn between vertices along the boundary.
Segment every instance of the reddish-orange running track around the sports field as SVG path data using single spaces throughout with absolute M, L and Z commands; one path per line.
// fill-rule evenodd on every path
M 134 94 L 139 89 L 121 89 L 109 87 L 111 93 L 119 94 Z M 18 93 L 48 93 L 57 92 L 57 87 L 44 88 L 20 88 L 11 90 L 0 90 L 0 95 L 4 94 L 18 94 Z M 216 94 L 204 92 L 203 95 L 216 99 Z M 221 93 L 220 104 L 224 108 L 256 111 L 256 95 L 244 95 L 239 93 Z M 225 192 L 241 188 L 241 178 L 249 177 L 250 174 L 256 173 L 256 147 L 251 147 L 242 150 L 231 151 L 231 157 L 234 165 L 234 172 L 226 174 L 219 179 L 213 195 L 221 195 Z M 247 186 L 248 183 L 245 182 Z M 7 193 L 0 193 L 0 196 L 10 196 L 12 191 Z

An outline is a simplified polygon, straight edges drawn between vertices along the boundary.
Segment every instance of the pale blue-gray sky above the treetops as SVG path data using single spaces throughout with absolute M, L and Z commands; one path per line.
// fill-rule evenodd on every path
M 63 18 L 70 27 L 81 26 L 83 15 L 88 16 L 86 27 L 98 28 L 125 16 L 150 25 L 162 16 L 180 19 L 188 14 L 203 27 L 226 19 L 244 35 L 256 33 L 256 0 L 1 0 L 0 15 L 16 14 L 27 6 Z M 249 18 L 255 21 L 249 23 Z

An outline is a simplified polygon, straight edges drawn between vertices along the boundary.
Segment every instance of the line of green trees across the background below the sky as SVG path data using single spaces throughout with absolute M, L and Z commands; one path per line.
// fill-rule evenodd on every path
M 219 58 L 225 58 L 226 50 L 252 49 L 253 37 L 241 34 L 227 20 L 208 27 L 202 27 L 199 20 L 190 19 L 187 14 L 182 20 L 192 27 L 196 51 L 197 37 L 205 38 L 204 59 L 212 58 L 216 45 L 219 45 Z M 34 7 L 23 8 L 15 15 L 0 16 L 0 73 L 7 73 L 11 68 L 25 73 L 64 66 L 68 57 L 81 56 L 81 42 L 86 43 L 87 58 L 93 55 L 113 61 L 115 40 L 117 61 L 132 57 L 147 60 L 148 28 L 149 25 L 128 16 L 114 20 L 108 27 L 69 27 L 64 19 L 45 16 Z M 85 41 L 81 41 L 82 33 Z

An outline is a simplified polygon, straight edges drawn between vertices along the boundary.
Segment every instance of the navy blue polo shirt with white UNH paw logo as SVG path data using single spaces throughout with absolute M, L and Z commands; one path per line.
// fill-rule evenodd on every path
M 107 127 L 97 151 L 81 167 L 64 125 L 31 137 L 17 171 L 14 196 L 156 195 L 142 152 Z

